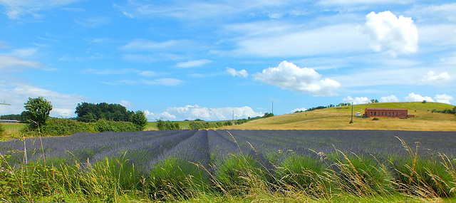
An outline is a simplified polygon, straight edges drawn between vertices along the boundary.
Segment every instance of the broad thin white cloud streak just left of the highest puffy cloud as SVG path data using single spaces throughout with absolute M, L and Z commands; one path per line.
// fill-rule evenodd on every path
M 249 28 L 245 29 L 249 31 Z M 272 28 L 266 27 L 266 29 Z M 288 31 L 286 29 L 279 33 L 274 31 L 267 36 L 239 38 L 238 48 L 232 53 L 239 56 L 259 57 L 316 56 L 365 51 L 365 44 L 368 43 L 368 37 L 356 31 L 355 24 L 337 24 L 310 30 L 295 28 Z

